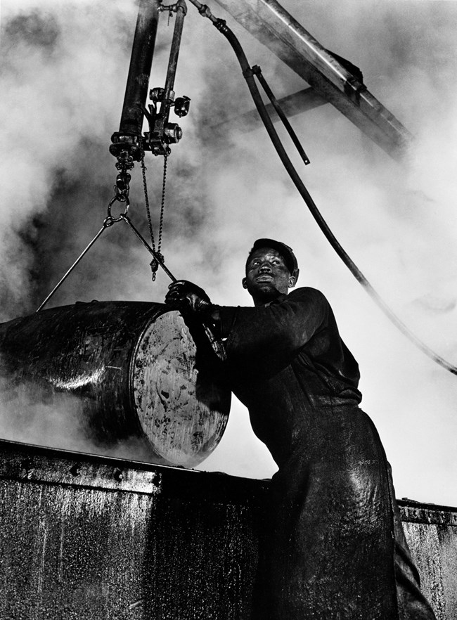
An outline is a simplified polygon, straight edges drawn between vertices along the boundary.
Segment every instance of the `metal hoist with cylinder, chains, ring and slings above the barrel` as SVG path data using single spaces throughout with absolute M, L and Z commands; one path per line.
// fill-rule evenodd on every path
M 159 24 L 160 13 L 168 13 L 168 22 L 172 15 L 176 14 L 172 44 L 169 52 L 167 77 L 165 86 L 150 89 L 148 93 L 149 77 L 153 63 L 155 39 Z M 103 221 L 101 229 L 96 233 L 91 242 L 84 248 L 82 253 L 67 270 L 63 278 L 53 288 L 49 295 L 41 303 L 37 312 L 40 311 L 51 299 L 56 290 L 63 284 L 65 279 L 75 269 L 79 261 L 90 250 L 92 245 L 98 240 L 103 231 L 119 221 L 124 221 L 129 228 L 139 238 L 144 247 L 152 254 L 153 260 L 150 263 L 153 280 L 157 273 L 158 266 L 164 269 L 167 276 L 176 282 L 176 278 L 165 266 L 162 247 L 162 231 L 165 210 L 165 188 L 167 183 L 167 160 L 171 153 L 170 146 L 178 143 L 182 137 L 182 129 L 179 124 L 169 121 L 170 112 L 173 110 L 178 117 L 188 114 L 191 99 L 187 96 L 175 98 L 174 79 L 178 64 L 179 48 L 184 26 L 184 18 L 187 13 L 187 6 L 184 0 L 178 0 L 176 4 L 162 5 L 162 0 L 141 0 L 134 42 L 131 50 L 129 74 L 127 76 L 127 86 L 125 89 L 124 103 L 119 131 L 111 136 L 110 153 L 117 158 L 116 168 L 118 174 L 114 186 L 114 196 L 108 204 L 108 213 Z M 149 94 L 150 104 L 146 108 L 146 100 Z M 143 134 L 143 120 L 148 122 L 148 131 Z M 160 220 L 157 233 L 157 243 L 153 231 L 152 217 L 148 198 L 148 186 L 146 183 L 145 152 L 150 151 L 153 155 L 162 155 L 164 158 L 163 179 L 162 179 L 162 200 L 160 205 Z M 150 244 L 143 238 L 143 235 L 134 226 L 129 218 L 129 190 L 131 174 L 130 170 L 134 167 L 134 162 L 140 162 L 143 177 L 143 190 L 146 205 L 146 215 L 150 233 Z M 114 207 L 121 207 L 120 214 L 114 213 Z

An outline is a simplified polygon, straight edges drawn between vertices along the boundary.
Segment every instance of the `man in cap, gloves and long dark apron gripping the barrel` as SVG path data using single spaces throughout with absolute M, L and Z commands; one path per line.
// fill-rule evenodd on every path
M 411 562 L 390 467 L 359 408 L 359 367 L 321 292 L 294 288 L 291 248 L 258 239 L 243 287 L 254 308 L 215 306 L 185 280 L 165 301 L 226 338 L 233 392 L 278 465 L 253 617 L 432 620 Z

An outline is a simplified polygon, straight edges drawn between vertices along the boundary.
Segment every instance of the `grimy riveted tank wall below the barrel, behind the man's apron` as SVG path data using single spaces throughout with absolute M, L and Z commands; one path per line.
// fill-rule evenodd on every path
M 0 487 L 1 618 L 249 618 L 268 482 L 0 441 Z M 453 620 L 457 511 L 400 509 Z

